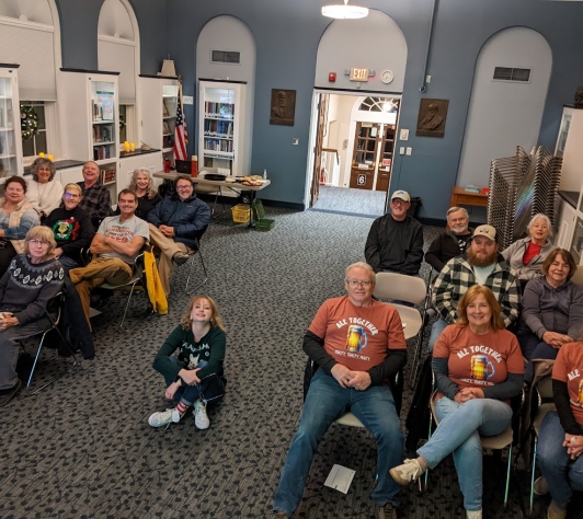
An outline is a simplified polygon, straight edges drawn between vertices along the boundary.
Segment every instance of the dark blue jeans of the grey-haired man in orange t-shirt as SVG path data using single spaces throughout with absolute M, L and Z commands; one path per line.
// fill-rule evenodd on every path
M 308 477 L 318 442 L 328 427 L 351 411 L 377 442 L 378 483 L 371 499 L 384 506 L 398 505 L 399 485 L 389 470 L 402 462 L 403 434 L 391 390 L 386 384 L 371 385 L 366 391 L 342 388 L 323 369 L 313 376 L 306 395 L 299 428 L 292 440 L 285 460 L 273 508 L 292 516 L 297 508 Z

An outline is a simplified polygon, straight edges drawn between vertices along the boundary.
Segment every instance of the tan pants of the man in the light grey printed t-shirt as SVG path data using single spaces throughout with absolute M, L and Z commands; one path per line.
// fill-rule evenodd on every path
M 83 312 L 85 313 L 90 328 L 91 321 L 89 320 L 89 308 L 91 290 L 104 282 L 123 285 L 132 279 L 132 265 L 128 265 L 118 257 L 98 257 L 91 261 L 87 267 L 72 268 L 69 270 L 69 277 L 71 278 L 71 281 L 75 282 L 75 288 L 81 299 Z

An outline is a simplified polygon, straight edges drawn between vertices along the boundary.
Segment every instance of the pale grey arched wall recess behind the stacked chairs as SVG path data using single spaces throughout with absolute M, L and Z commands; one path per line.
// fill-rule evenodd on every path
M 550 79 L 547 41 L 526 27 L 494 35 L 476 65 L 470 109 L 456 185 L 487 186 L 493 159 L 527 152 L 537 143 Z M 531 68 L 530 82 L 492 81 L 494 67 Z

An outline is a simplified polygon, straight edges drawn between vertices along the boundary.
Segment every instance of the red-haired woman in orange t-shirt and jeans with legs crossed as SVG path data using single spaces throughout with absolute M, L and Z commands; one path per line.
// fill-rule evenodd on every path
M 458 322 L 444 330 L 433 350 L 439 425 L 418 450 L 419 458 L 390 471 L 397 483 L 407 485 L 453 453 L 469 519 L 482 517 L 480 435 L 495 436 L 508 427 L 510 399 L 524 382 L 518 341 L 504 328 L 500 313 L 488 287 L 475 285 L 460 299 Z

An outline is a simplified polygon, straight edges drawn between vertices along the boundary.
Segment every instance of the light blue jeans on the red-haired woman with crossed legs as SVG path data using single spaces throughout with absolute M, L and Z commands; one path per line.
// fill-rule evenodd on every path
M 480 435 L 503 432 L 512 419 L 508 404 L 493 399 L 473 399 L 465 404 L 441 397 L 435 402 L 439 425 L 430 440 L 418 450 L 430 469 L 454 454 L 459 487 L 466 510 L 482 508 L 482 443 Z

